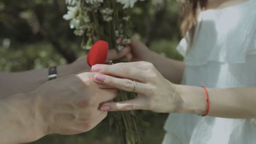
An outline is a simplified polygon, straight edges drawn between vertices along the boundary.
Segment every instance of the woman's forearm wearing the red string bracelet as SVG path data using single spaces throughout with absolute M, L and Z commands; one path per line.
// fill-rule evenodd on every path
M 177 85 L 183 107 L 179 112 L 203 115 L 206 94 L 201 87 Z M 256 118 L 256 88 L 207 88 L 210 99 L 208 116 L 224 118 Z

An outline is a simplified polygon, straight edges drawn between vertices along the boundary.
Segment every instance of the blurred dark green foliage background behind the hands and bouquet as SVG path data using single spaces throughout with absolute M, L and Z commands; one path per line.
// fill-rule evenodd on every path
M 148 38 L 150 49 L 174 59 L 182 59 L 175 47 L 180 39 L 177 3 L 167 0 L 136 3 L 132 21 L 137 37 Z M 153 4 L 152 4 L 153 3 Z M 156 15 L 158 9 L 164 9 Z M 85 51 L 73 34 L 65 1 L 0 0 L 0 71 L 23 71 L 71 63 Z M 9 42 L 9 44 L 8 44 Z M 167 114 L 139 111 L 144 143 L 161 143 Z M 109 118 L 88 133 L 49 135 L 33 143 L 115 143 L 118 135 Z

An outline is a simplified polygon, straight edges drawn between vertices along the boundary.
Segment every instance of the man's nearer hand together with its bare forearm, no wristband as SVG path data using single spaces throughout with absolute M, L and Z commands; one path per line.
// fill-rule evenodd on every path
M 117 96 L 94 81 L 95 73 L 51 80 L 36 91 L 0 99 L 0 143 L 31 142 L 48 134 L 79 134 L 107 116 L 101 104 Z

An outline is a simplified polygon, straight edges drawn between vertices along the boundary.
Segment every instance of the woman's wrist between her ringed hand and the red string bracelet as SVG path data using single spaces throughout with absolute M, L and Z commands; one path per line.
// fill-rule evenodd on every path
M 200 116 L 206 113 L 207 103 L 203 88 L 184 85 L 176 85 L 176 87 L 183 99 L 183 104 L 179 106 L 177 112 L 194 113 Z

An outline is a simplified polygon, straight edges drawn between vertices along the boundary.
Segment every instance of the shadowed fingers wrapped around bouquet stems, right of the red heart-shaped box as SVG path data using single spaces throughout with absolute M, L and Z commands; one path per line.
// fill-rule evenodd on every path
M 126 56 L 127 54 L 129 54 L 130 51 L 131 51 L 130 46 L 124 47 L 124 49 L 120 52 L 118 52 L 117 50 L 114 50 L 114 49 L 109 50 L 107 59 L 109 59 L 109 60 L 120 59 L 120 58 Z

